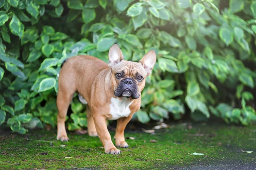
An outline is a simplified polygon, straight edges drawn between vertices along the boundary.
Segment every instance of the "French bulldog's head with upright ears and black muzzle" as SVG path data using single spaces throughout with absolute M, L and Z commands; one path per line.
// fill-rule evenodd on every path
M 149 51 L 140 62 L 125 61 L 121 49 L 114 44 L 109 50 L 108 58 L 115 96 L 138 99 L 145 87 L 145 79 L 151 74 L 156 62 L 155 52 Z

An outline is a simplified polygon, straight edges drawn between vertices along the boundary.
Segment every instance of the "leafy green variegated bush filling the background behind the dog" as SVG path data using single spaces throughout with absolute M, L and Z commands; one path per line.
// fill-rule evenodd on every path
M 0 124 L 18 133 L 56 125 L 60 65 L 89 54 L 108 61 L 153 49 L 140 122 L 172 115 L 227 123 L 256 119 L 256 0 L 0 0 Z M 87 126 L 75 95 L 68 129 Z

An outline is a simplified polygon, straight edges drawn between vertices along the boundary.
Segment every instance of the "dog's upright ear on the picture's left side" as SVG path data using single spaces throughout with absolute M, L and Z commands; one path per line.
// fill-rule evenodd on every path
M 108 52 L 108 67 L 113 68 L 117 63 L 125 60 L 122 51 L 117 44 L 112 45 Z

